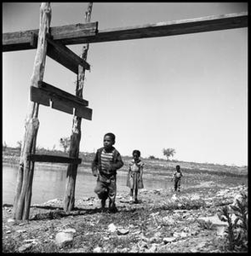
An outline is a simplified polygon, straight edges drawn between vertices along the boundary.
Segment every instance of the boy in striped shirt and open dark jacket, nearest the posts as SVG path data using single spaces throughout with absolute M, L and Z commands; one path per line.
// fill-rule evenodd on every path
M 123 166 L 121 155 L 112 145 L 115 144 L 115 135 L 111 132 L 104 136 L 104 147 L 99 148 L 92 162 L 92 172 L 97 178 L 94 192 L 101 199 L 102 210 L 106 207 L 109 197 L 109 212 L 117 212 L 115 198 L 117 194 L 117 169 Z

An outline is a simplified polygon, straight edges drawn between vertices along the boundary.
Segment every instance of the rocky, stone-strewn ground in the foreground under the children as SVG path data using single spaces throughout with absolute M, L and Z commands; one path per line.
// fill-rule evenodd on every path
M 23 223 L 4 205 L 3 253 L 226 253 L 228 224 L 217 214 L 243 191 L 246 185 L 212 182 L 176 194 L 141 189 L 138 204 L 117 195 L 117 213 L 101 212 L 96 197 L 76 201 L 66 213 L 55 199 L 33 205 Z

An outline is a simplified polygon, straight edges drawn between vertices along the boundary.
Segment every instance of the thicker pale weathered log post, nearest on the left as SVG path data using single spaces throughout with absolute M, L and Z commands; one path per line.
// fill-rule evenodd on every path
M 48 33 L 51 20 L 51 8 L 49 3 L 42 3 L 40 7 L 40 27 L 37 42 L 37 53 L 35 56 L 33 73 L 31 75 L 31 86 L 38 87 L 38 81 L 43 80 L 45 58 L 47 51 Z M 38 116 L 39 104 L 29 103 L 29 112 L 26 118 L 26 132 L 20 155 L 20 168 L 18 171 L 16 191 L 14 195 L 13 218 L 26 220 L 29 218 L 32 194 L 32 181 L 34 172 L 34 162 L 28 159 L 29 154 L 35 154 L 37 131 L 39 127 Z

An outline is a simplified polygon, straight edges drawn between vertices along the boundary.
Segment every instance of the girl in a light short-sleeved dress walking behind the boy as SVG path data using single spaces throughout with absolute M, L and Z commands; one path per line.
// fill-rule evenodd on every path
M 138 203 L 138 189 L 143 189 L 143 167 L 140 160 L 140 150 L 133 151 L 133 160 L 129 163 L 127 186 L 130 188 L 130 203 Z M 133 199 L 134 195 L 134 199 Z

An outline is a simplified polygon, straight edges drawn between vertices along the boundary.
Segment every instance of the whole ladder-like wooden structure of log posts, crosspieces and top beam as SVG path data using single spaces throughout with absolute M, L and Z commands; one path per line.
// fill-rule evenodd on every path
M 69 212 L 74 207 L 77 165 L 82 161 L 78 158 L 81 140 L 81 120 L 92 119 L 92 109 L 88 108 L 88 101 L 83 99 L 85 70 L 90 68 L 86 61 L 89 44 L 168 37 L 248 26 L 248 13 L 245 12 L 159 22 L 144 26 L 99 30 L 98 22 L 90 22 L 91 11 L 92 3 L 88 3 L 85 23 L 50 27 L 50 3 L 42 3 L 39 29 L 3 33 L 3 52 L 37 49 L 31 75 L 30 109 L 26 118 L 26 132 L 21 149 L 20 168 L 14 195 L 13 217 L 17 220 L 29 218 L 33 172 L 35 162 L 38 161 L 68 164 L 64 209 L 66 212 Z M 71 49 L 66 47 L 66 45 L 71 44 L 83 44 L 81 56 L 76 55 Z M 75 95 L 43 81 L 47 55 L 71 70 L 71 72 L 77 74 Z M 73 115 L 69 157 L 36 154 L 39 105 L 58 109 Z

